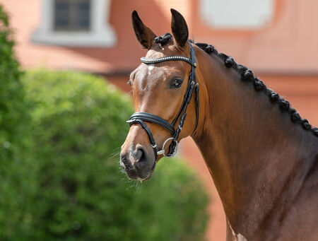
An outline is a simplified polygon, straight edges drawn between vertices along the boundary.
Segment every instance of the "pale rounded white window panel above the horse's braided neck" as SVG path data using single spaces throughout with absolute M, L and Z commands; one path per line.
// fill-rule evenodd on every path
M 273 0 L 201 0 L 200 12 L 216 29 L 257 29 L 273 18 Z

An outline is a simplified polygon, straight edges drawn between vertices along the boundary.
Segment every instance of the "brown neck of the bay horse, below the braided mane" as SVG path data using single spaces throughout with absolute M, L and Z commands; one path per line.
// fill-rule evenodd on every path
M 270 211 L 293 198 L 317 155 L 317 137 L 290 122 L 264 93 L 218 57 L 198 54 L 201 123 L 192 136 L 235 232 L 257 232 Z M 203 114 L 204 113 L 204 114 Z M 313 158 L 314 159 L 314 158 Z

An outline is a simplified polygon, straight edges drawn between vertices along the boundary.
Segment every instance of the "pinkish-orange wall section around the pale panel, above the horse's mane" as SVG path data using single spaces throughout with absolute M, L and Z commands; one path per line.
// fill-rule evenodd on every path
M 259 73 L 318 74 L 318 1 L 274 0 L 274 17 L 257 30 L 215 30 L 193 1 L 192 34 Z M 226 14 L 226 13 L 224 13 Z

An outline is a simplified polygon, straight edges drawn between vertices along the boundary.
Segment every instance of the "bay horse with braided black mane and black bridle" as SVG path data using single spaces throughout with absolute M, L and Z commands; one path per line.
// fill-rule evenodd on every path
M 148 180 L 192 136 L 223 204 L 226 240 L 318 240 L 317 127 L 232 57 L 189 42 L 183 16 L 171 13 L 172 35 L 160 37 L 132 13 L 148 52 L 129 79 L 126 174 Z

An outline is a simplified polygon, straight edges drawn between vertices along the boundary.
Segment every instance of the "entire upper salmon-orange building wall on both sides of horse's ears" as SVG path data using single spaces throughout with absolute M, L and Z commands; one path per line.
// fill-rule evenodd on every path
M 318 1 L 275 2 L 273 20 L 258 30 L 215 30 L 200 18 L 199 0 L 116 0 L 111 3 L 110 24 L 117 35 L 112 48 L 38 45 L 30 37 L 40 23 L 40 0 L 0 0 L 16 30 L 16 52 L 25 67 L 81 69 L 102 73 L 131 71 L 145 51 L 131 28 L 136 9 L 158 35 L 170 32 L 170 7 L 187 19 L 190 37 L 208 42 L 232 55 L 237 62 L 261 74 L 318 74 Z M 224 13 L 226 14 L 226 13 Z

